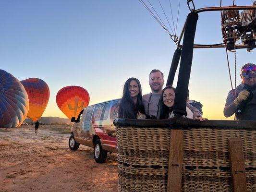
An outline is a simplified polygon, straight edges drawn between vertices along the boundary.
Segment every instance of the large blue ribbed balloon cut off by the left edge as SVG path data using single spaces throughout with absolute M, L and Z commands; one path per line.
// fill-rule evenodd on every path
M 24 86 L 0 70 L 0 127 L 18 127 L 26 119 L 29 100 Z

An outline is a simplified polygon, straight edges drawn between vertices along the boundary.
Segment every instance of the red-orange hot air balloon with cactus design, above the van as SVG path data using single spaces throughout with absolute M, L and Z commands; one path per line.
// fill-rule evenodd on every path
M 88 106 L 89 93 L 80 86 L 63 87 L 56 96 L 56 103 L 61 111 L 69 118 L 77 118 L 82 108 Z

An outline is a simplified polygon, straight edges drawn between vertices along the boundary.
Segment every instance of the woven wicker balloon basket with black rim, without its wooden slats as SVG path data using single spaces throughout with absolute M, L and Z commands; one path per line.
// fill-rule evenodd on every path
M 183 192 L 233 191 L 228 138 L 234 137 L 243 141 L 247 192 L 255 192 L 255 123 L 248 126 L 246 122 L 228 125 L 227 122 L 208 121 L 204 126 L 204 122 L 200 124 L 187 119 L 184 122 L 168 122 L 115 121 L 119 192 L 167 192 L 171 129 L 183 129 Z M 246 126 L 247 129 L 239 126 Z

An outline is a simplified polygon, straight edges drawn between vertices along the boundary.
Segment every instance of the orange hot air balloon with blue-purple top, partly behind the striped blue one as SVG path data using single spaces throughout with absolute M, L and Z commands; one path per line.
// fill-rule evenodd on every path
M 29 78 L 21 81 L 29 98 L 27 117 L 36 121 L 41 118 L 47 107 L 50 91 L 48 85 L 41 79 Z

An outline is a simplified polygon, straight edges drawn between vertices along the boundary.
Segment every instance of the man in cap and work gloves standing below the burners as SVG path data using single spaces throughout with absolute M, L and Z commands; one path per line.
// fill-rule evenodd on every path
M 235 113 L 236 120 L 256 120 L 256 65 L 247 63 L 241 68 L 242 83 L 228 94 L 224 115 Z

